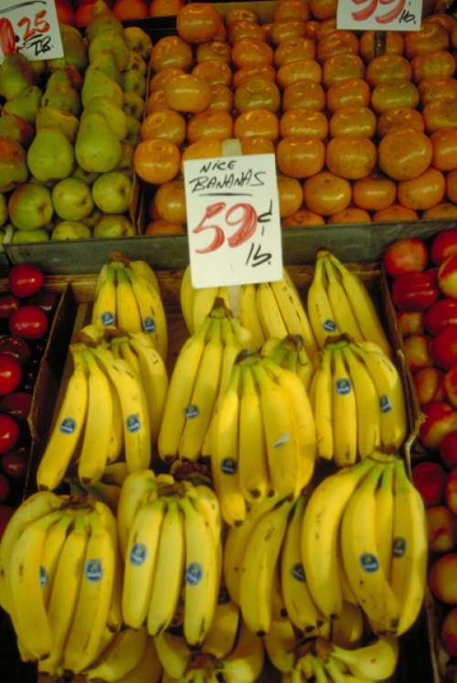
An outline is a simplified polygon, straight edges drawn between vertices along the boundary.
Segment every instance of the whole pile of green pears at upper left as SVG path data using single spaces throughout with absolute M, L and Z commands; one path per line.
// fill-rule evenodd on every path
M 0 65 L 0 241 L 135 234 L 129 216 L 152 42 L 97 0 L 64 57 Z

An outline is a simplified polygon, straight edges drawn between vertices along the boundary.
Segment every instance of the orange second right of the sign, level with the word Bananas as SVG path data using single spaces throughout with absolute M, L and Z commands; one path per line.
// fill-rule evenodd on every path
M 303 186 L 306 208 L 319 216 L 332 216 L 344 211 L 351 203 L 351 186 L 345 180 L 329 171 L 321 171 L 308 178 Z

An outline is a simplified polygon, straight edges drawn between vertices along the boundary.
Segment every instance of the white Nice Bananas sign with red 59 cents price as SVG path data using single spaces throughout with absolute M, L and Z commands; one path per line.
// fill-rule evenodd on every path
M 194 287 L 281 280 L 274 155 L 185 161 L 184 179 Z

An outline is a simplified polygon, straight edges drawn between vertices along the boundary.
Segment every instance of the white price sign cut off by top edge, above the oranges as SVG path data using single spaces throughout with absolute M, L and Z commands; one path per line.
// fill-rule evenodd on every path
M 419 31 L 422 0 L 339 0 L 337 28 Z

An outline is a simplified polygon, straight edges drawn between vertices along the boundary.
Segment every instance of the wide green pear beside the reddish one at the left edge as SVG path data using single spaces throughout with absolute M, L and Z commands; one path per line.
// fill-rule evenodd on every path
M 62 180 L 71 175 L 75 162 L 75 151 L 65 134 L 58 128 L 44 128 L 37 131 L 27 153 L 27 164 L 37 180 Z

